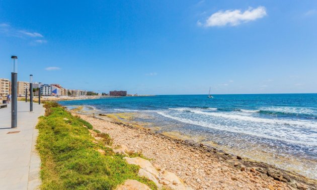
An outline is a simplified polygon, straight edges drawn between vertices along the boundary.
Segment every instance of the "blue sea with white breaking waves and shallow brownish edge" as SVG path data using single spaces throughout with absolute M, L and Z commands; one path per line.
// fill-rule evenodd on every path
M 69 108 L 85 106 L 102 114 L 132 114 L 129 122 L 157 133 L 193 140 L 317 179 L 316 93 L 213 97 L 166 95 L 59 103 Z

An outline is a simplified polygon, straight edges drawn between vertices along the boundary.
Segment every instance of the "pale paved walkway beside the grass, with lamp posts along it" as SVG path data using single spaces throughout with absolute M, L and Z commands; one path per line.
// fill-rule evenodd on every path
M 44 108 L 18 101 L 18 127 L 11 129 L 11 104 L 0 109 L 0 188 L 35 189 L 39 179 L 41 160 L 35 150 L 38 117 Z M 9 133 L 13 132 L 13 133 Z

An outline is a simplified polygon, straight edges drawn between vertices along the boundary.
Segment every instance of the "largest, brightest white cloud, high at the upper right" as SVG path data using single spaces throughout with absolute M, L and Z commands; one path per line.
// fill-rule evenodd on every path
M 257 19 L 263 18 L 266 16 L 265 7 L 258 7 L 256 9 L 249 8 L 245 12 L 241 10 L 226 10 L 218 11 L 208 17 L 204 24 L 205 27 L 214 27 L 214 26 L 236 26 L 242 23 L 247 23 L 250 21 L 255 21 Z M 197 22 L 199 25 L 200 21 Z

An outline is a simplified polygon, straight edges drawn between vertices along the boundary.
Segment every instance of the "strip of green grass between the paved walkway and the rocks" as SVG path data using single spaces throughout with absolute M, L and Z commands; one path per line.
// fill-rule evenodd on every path
M 95 144 L 87 129 L 92 128 L 91 124 L 73 117 L 57 103 L 47 102 L 44 107 L 45 116 L 37 125 L 41 189 L 114 189 L 126 179 L 157 188 L 152 181 L 137 175 L 138 166 L 127 164 L 123 156 L 105 147 L 112 142 L 108 134 L 99 133 L 107 138 Z

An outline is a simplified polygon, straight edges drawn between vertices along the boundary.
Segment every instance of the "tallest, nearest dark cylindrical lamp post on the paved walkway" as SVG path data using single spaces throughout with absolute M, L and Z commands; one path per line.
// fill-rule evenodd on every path
M 16 128 L 18 123 L 18 57 L 11 56 L 13 59 L 13 72 L 11 73 L 11 128 Z

